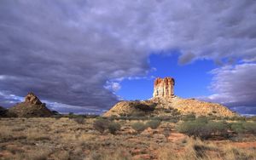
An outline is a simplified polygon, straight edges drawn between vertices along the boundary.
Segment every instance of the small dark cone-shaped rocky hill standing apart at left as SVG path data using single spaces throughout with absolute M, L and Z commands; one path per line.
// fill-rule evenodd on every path
M 33 93 L 27 94 L 25 101 L 11 107 L 8 113 L 13 117 L 49 117 L 53 115 L 53 112 L 49 111 Z

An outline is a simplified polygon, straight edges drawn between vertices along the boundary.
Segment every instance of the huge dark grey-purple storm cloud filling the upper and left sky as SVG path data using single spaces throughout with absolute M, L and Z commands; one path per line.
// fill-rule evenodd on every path
M 117 97 L 106 83 L 144 75 L 152 50 L 181 50 L 181 63 L 256 60 L 255 4 L 1 0 L 0 90 L 108 108 Z

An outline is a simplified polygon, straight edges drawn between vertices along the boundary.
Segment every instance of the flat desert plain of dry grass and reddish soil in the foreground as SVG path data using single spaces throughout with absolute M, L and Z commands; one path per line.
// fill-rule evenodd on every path
M 228 136 L 194 136 L 178 128 L 193 121 L 195 119 L 188 118 L 178 121 L 102 117 L 1 118 L 0 159 L 256 159 L 255 130 L 247 133 L 237 126 L 239 123 L 255 126 L 253 119 L 218 120 L 236 131 L 227 129 Z M 104 129 L 104 126 L 111 126 L 109 123 L 112 128 Z

